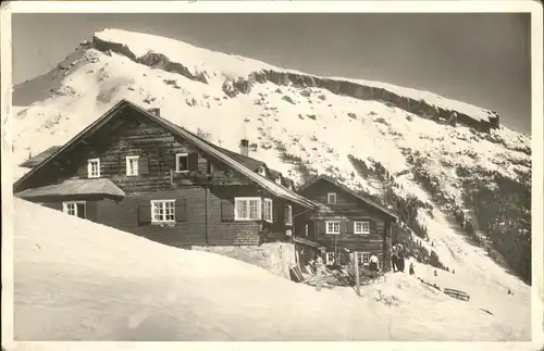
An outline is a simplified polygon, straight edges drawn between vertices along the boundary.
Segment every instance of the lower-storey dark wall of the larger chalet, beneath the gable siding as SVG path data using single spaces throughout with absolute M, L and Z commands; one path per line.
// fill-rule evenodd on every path
M 208 189 L 199 186 L 128 193 L 122 201 L 110 199 L 87 201 L 88 220 L 173 246 L 256 246 L 261 241 L 260 221 L 225 221 L 222 201 L 233 202 L 235 197 L 260 196 L 255 187 L 224 186 Z M 84 200 L 84 199 L 71 199 Z M 150 223 L 151 200 L 176 200 L 185 209 L 183 218 L 170 226 Z M 62 201 L 44 202 L 48 208 L 62 211 Z M 148 215 L 143 221 L 140 209 Z M 178 208 L 180 209 L 180 208 Z M 176 209 L 176 210 L 178 210 Z M 234 206 L 232 208 L 234 211 Z M 208 213 L 208 216 L 206 215 Z

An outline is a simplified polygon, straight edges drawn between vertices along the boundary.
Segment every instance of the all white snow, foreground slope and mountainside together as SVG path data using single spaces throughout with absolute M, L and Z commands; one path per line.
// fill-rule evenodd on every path
M 55 89 L 48 98 L 17 108 L 12 124 L 15 164 L 29 152 L 37 154 L 66 142 L 124 98 L 160 108 L 163 117 L 195 133 L 208 133 L 212 142 L 232 150 L 246 137 L 257 145 L 252 156 L 295 180 L 300 180 L 299 174 L 282 160 L 282 152 L 300 158 L 320 174 L 342 177 L 348 186 L 380 193 L 369 179 L 358 175 L 348 155 L 373 159 L 395 174 L 411 168 L 408 150 L 421 155 L 424 170 L 457 203 L 462 198 L 455 172 L 458 166 L 497 171 L 515 179 L 519 172 L 530 171 L 530 155 L 519 151 L 530 148 L 530 137 L 505 127 L 483 135 L 466 126 L 440 125 L 378 101 L 270 82 L 256 84 L 247 95 L 228 98 L 222 90 L 225 77 L 247 77 L 271 66 L 139 34 L 107 30 L 98 36 L 122 42 L 137 55 L 147 49 L 164 53 L 194 73 L 205 73 L 208 84 L 135 63 L 121 54 L 81 49 L 69 55 L 64 68 L 40 78 L 45 79 L 40 87 L 51 80 Z M 426 92 L 388 88 L 415 99 L 435 99 L 448 109 L 468 109 L 463 111 L 474 118 L 485 113 Z M 21 91 L 40 96 L 25 91 L 25 86 Z M 15 178 L 24 172 L 15 168 Z M 411 174 L 396 181 L 401 186 L 399 193 L 432 203 Z M 530 287 L 467 243 L 436 206 L 434 218 L 421 214 L 421 222 L 435 243 L 433 250 L 456 274 L 441 271 L 434 277 L 426 266 L 417 266 L 418 274 L 441 287 L 466 290 L 472 297 L 469 303 L 435 293 L 404 275 L 391 275 L 387 283 L 369 288 L 364 298 L 339 288 L 316 293 L 242 262 L 165 248 L 21 201 L 16 206 L 36 217 L 30 222 L 26 214 L 16 212 L 15 329 L 20 338 L 530 338 Z M 62 223 L 61 230 L 58 223 Z M 514 294 L 507 294 L 508 289 Z M 375 301 L 376 291 L 396 297 L 398 305 Z

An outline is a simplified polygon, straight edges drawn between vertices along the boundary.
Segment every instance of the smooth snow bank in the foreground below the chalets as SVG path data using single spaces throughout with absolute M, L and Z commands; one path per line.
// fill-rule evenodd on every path
M 452 299 L 408 275 L 390 275 L 361 298 L 349 288 L 316 292 L 233 259 L 165 247 L 23 200 L 14 209 L 16 340 L 529 338 L 519 310 L 490 315 L 483 301 Z

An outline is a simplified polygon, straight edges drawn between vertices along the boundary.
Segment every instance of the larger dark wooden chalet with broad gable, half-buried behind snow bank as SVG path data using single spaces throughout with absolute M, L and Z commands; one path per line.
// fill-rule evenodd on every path
M 65 145 L 26 162 L 32 170 L 13 189 L 22 199 L 171 246 L 290 240 L 294 218 L 318 204 L 249 158 L 247 140 L 240 150 L 219 148 L 159 110 L 122 100 Z

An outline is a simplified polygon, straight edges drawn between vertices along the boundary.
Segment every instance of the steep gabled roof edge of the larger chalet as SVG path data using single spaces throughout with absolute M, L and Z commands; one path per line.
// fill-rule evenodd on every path
M 272 193 L 275 197 L 289 200 L 292 202 L 298 203 L 305 208 L 308 209 L 313 209 L 316 208 L 316 203 L 313 201 L 310 201 L 306 199 L 305 197 L 281 186 L 274 183 L 271 179 L 268 179 L 265 177 L 262 177 L 258 174 L 256 174 L 254 171 L 249 170 L 247 166 L 242 164 L 239 161 L 236 161 L 232 156 L 227 155 L 225 152 L 220 151 L 215 146 L 211 145 L 210 142 L 203 141 L 200 137 L 196 136 L 195 134 L 188 131 L 185 128 L 182 128 L 181 126 L 163 118 L 160 117 L 140 106 L 137 104 L 128 101 L 128 100 L 121 100 L 118 102 L 113 108 L 111 108 L 108 112 L 106 112 L 101 117 L 99 117 L 97 121 L 91 123 L 89 126 L 87 126 L 85 129 L 83 129 L 79 134 L 77 134 L 75 137 L 73 137 L 69 142 L 63 145 L 60 149 L 58 149 L 55 152 L 53 152 L 51 155 L 49 155 L 47 159 L 45 159 L 40 164 L 38 164 L 35 168 L 26 173 L 23 177 L 21 177 L 15 184 L 13 185 L 14 190 L 17 189 L 24 181 L 26 181 L 29 177 L 32 177 L 36 172 L 38 172 L 40 168 L 42 168 L 46 164 L 51 162 L 53 159 L 55 159 L 59 154 L 64 152 L 65 150 L 72 148 L 74 145 L 76 145 L 79 140 L 92 135 L 98 130 L 101 126 L 103 126 L 106 123 L 111 121 L 116 115 L 116 112 L 121 111 L 122 109 L 125 108 L 132 108 L 139 112 L 141 115 L 146 116 L 147 118 L 156 122 L 157 124 L 163 126 L 165 129 L 170 130 L 172 134 L 177 135 L 187 141 L 191 142 L 195 147 L 198 149 L 205 151 L 206 153 L 218 158 L 235 171 L 239 172 L 244 176 L 246 176 L 249 180 L 254 181 L 261 188 L 265 189 L 270 193 Z

